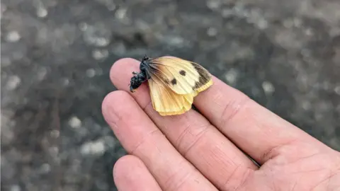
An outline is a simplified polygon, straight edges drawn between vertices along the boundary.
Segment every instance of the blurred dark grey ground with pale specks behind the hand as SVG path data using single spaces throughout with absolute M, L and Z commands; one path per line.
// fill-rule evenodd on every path
M 1 0 L 1 190 L 115 190 L 113 62 L 205 66 L 340 150 L 338 0 Z M 128 86 L 127 81 L 127 86 Z

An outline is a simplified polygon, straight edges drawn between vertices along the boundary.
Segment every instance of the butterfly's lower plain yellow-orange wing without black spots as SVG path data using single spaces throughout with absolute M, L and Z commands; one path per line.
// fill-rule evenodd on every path
M 159 115 L 180 115 L 191 109 L 195 94 L 177 94 L 157 77 L 149 79 L 148 83 L 152 106 Z

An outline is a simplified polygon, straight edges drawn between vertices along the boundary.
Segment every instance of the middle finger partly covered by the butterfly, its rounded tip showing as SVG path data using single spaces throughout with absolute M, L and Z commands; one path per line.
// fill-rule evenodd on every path
M 124 91 L 131 72 L 138 71 L 135 59 L 120 59 L 111 69 L 114 85 Z M 193 163 L 210 182 L 221 190 L 232 189 L 242 183 L 251 169 L 257 166 L 225 138 L 210 122 L 194 110 L 183 115 L 162 117 L 153 108 L 146 84 L 131 95 L 147 115 L 164 132 L 179 152 Z M 222 177 L 222 178 L 221 178 Z

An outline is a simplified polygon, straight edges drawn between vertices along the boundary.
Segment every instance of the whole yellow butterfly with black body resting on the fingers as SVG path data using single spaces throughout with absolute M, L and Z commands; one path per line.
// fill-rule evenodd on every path
M 152 107 L 159 115 L 181 115 L 193 98 L 212 86 L 212 76 L 200 64 L 178 57 L 143 57 L 140 72 L 132 72 L 130 91 L 147 81 Z

